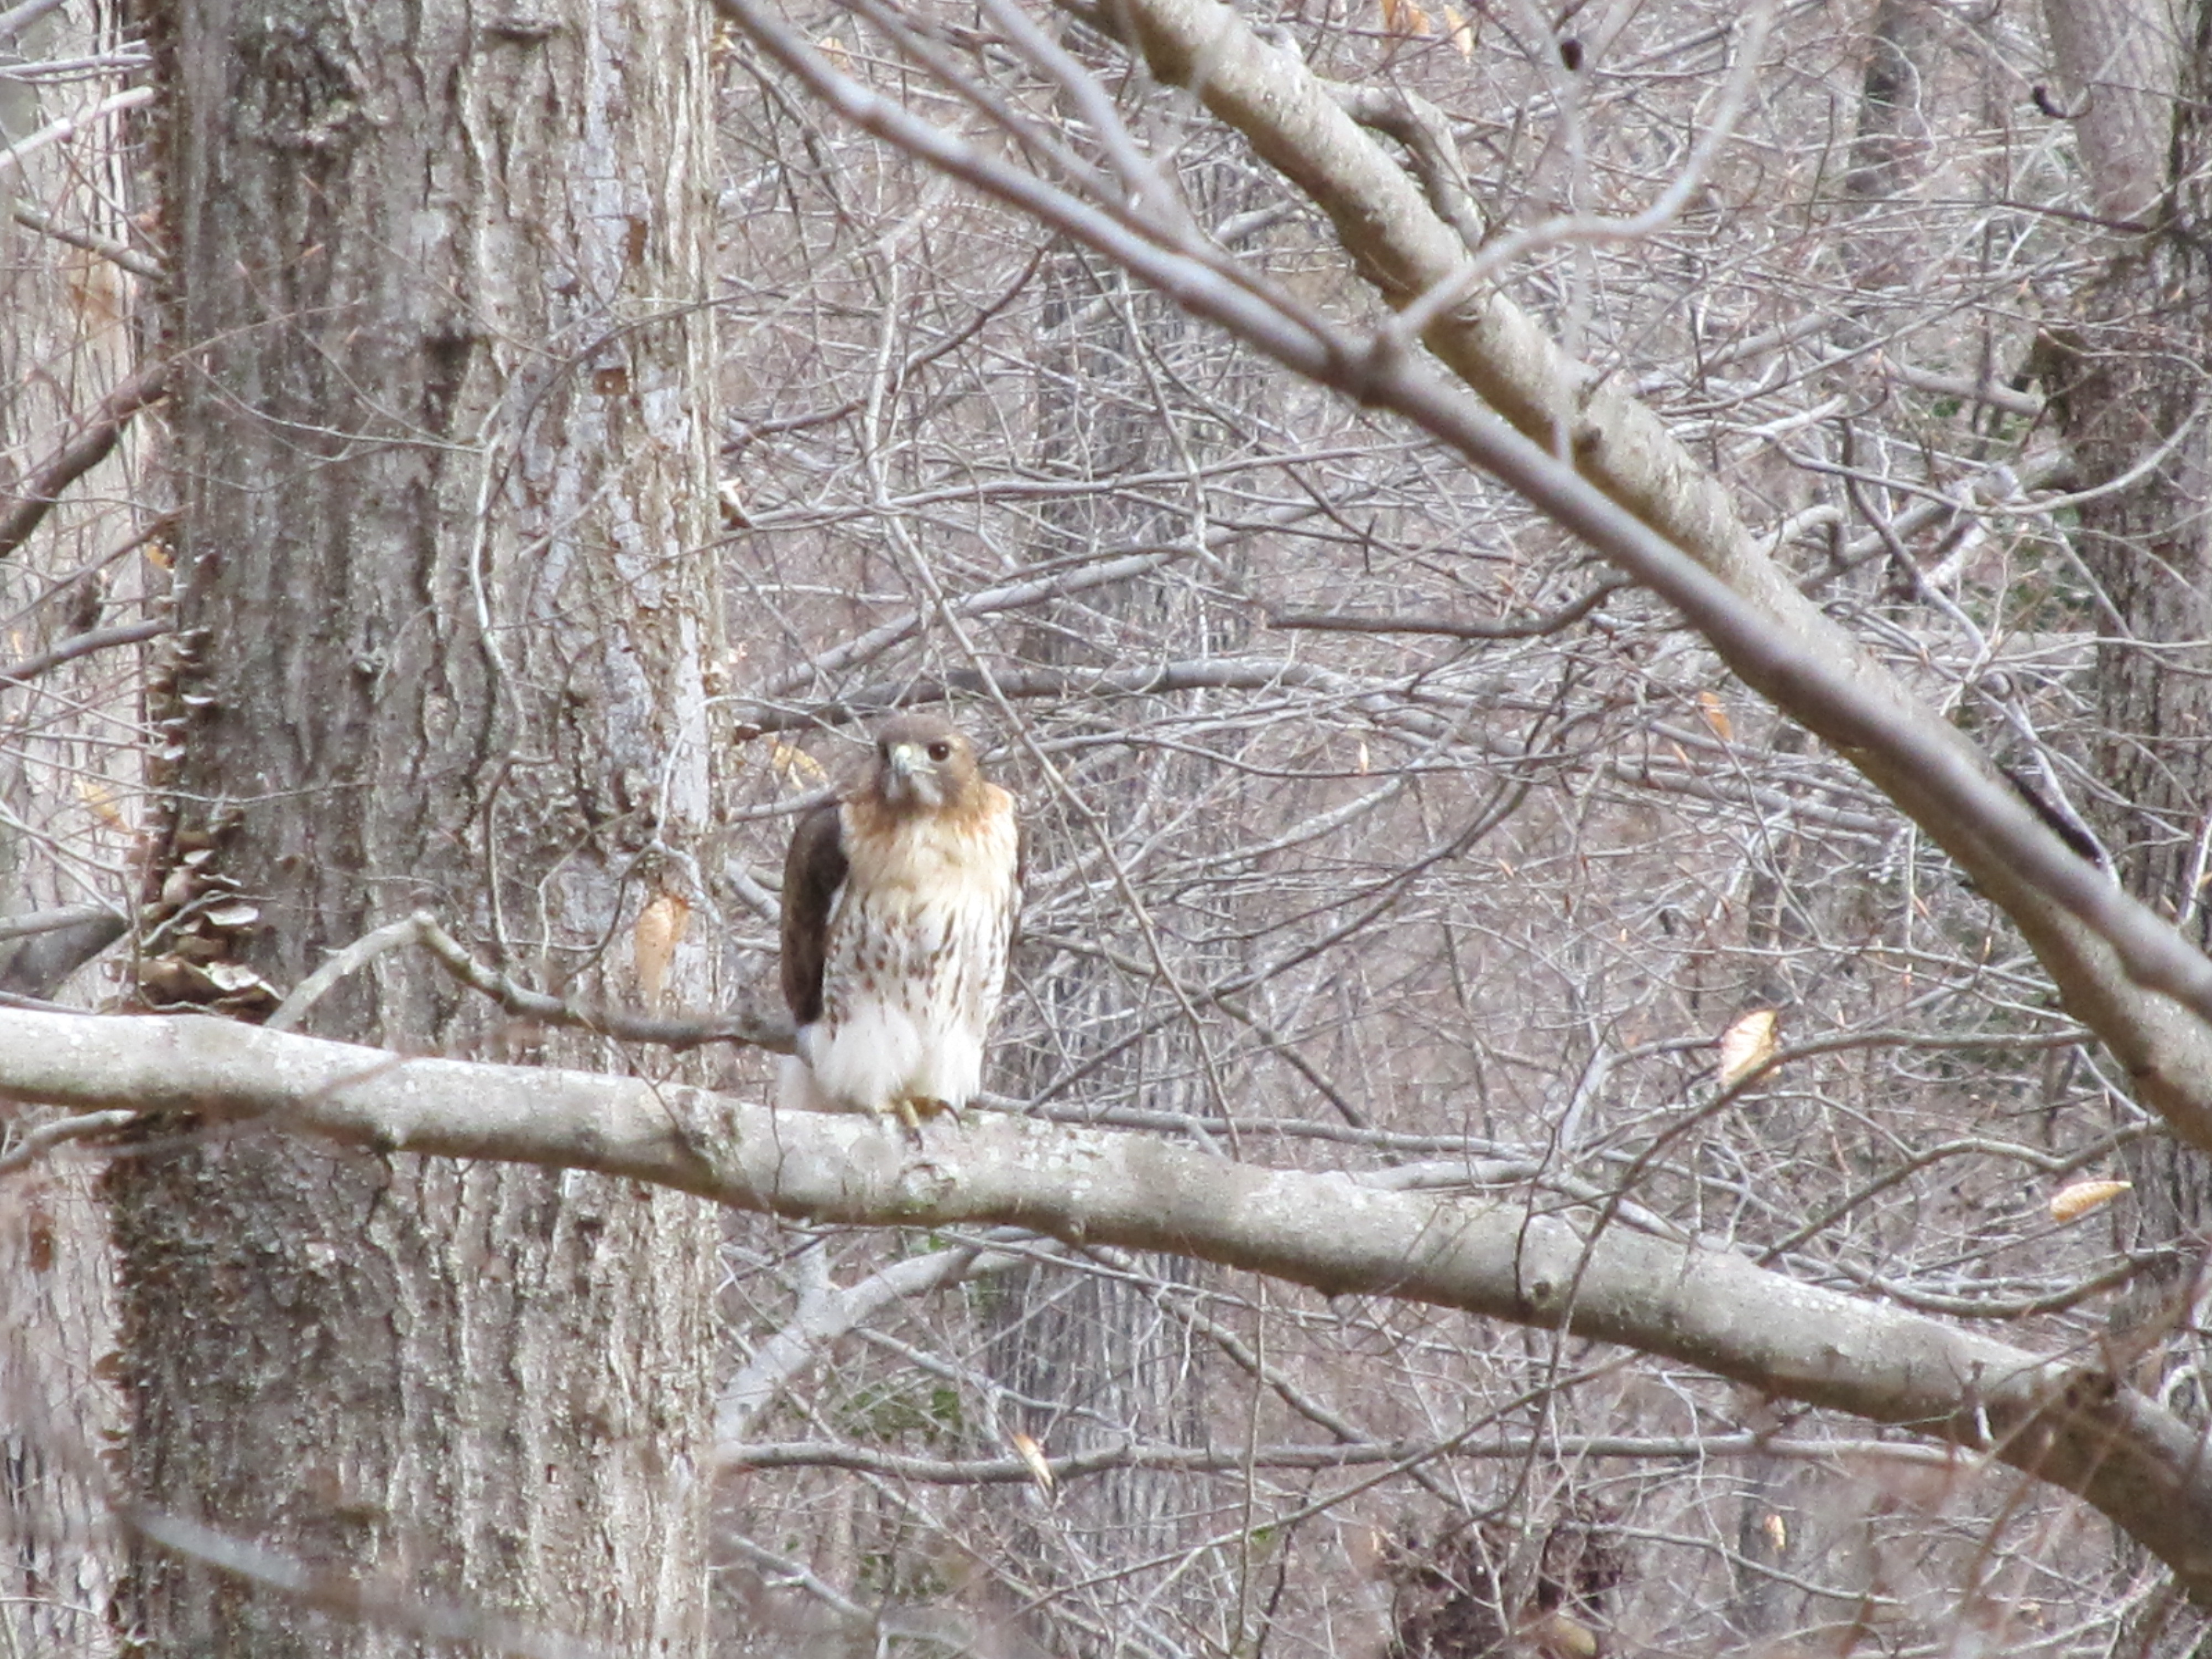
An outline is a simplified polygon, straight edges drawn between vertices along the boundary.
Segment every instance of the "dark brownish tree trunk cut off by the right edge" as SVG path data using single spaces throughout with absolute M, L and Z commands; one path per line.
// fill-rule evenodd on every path
M 2093 195 L 2108 212 L 2194 226 L 2212 208 L 2212 4 L 2190 7 L 2179 53 L 2161 29 L 2163 9 L 2139 4 L 2051 4 L 2051 33 L 2066 80 L 2101 100 L 2135 139 L 2110 144 L 2081 128 Z M 2170 77 L 2150 82 L 2163 115 L 2152 133 L 2141 88 L 2108 84 L 2115 69 L 2099 42 L 2139 38 L 2166 53 Z M 2077 55 L 2070 55 L 2077 53 Z M 2174 80 L 2174 75 L 2179 80 Z M 2166 91 L 2163 97 L 2157 97 Z M 2108 122 L 2108 124 L 2110 124 Z M 2148 148 L 2146 148 L 2148 146 Z M 2146 201 L 2137 164 L 2166 157 L 2163 199 Z M 2101 752 L 2095 772 L 2108 805 L 2099 830 L 2121 880 L 2172 916 L 2199 945 L 2212 942 L 2205 911 L 2212 845 L 2212 438 L 2203 422 L 2212 369 L 2212 259 L 2194 232 L 2159 232 L 2119 248 L 2077 307 L 2077 323 L 2051 327 L 2039 363 L 2053 409 L 2073 445 L 2081 482 L 2108 487 L 2079 509 L 2075 544 L 2097 582 L 2097 699 Z M 2152 456 L 2159 465 L 2117 484 Z M 2152 1343 L 2183 1323 L 2212 1225 L 2212 1164 L 2168 1135 L 2132 1141 L 2135 1248 L 2183 1245 L 2188 1259 L 2132 1294 L 2124 1327 Z M 2201 1396 L 2190 1405 L 2203 1405 Z

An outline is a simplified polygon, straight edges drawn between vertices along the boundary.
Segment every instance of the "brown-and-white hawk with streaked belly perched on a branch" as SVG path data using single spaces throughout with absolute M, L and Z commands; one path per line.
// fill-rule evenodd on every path
M 807 812 L 783 860 L 783 1000 L 799 1053 L 781 1104 L 958 1110 L 1006 984 L 1022 902 L 1013 796 L 929 714 L 876 732 L 867 779 Z

